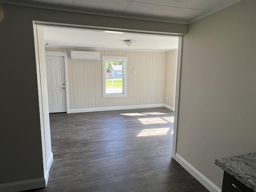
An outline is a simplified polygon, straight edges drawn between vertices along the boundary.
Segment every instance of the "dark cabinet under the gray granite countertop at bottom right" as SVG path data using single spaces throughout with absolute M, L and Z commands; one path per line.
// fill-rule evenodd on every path
M 222 192 L 254 192 L 236 178 L 224 171 Z

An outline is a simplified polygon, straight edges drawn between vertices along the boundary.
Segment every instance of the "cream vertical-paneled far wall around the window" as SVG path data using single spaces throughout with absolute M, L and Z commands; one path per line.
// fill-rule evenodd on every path
M 70 51 L 100 52 L 100 60 L 71 60 Z M 68 52 L 70 109 L 138 106 L 164 103 L 166 52 L 46 48 Z M 102 98 L 101 56 L 128 56 L 128 95 Z M 135 72 L 132 74 L 132 68 Z

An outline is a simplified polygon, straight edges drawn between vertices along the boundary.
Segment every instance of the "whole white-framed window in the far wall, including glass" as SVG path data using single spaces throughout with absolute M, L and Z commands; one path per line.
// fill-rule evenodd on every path
M 127 96 L 127 57 L 102 56 L 103 98 Z

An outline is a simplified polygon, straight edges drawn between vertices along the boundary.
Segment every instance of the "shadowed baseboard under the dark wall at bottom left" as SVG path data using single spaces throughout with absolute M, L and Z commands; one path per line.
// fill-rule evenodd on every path
M 46 186 L 45 179 L 38 178 L 38 179 L 31 179 L 31 180 L 24 180 L 24 181 L 1 184 L 0 191 L 18 192 L 18 191 L 35 189 L 35 188 L 43 188 L 45 186 Z

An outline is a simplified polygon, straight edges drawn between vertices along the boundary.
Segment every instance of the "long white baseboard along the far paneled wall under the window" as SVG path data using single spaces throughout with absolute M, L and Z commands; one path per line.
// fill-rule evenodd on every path
M 87 109 L 70 109 L 70 113 L 112 111 L 112 110 L 124 110 L 124 109 L 140 109 L 140 108 L 153 108 L 153 107 L 163 107 L 163 106 L 164 106 L 164 104 L 152 104 L 152 105 L 133 105 L 133 106 L 119 106 L 119 107 L 87 108 Z

